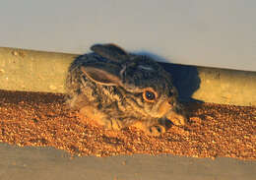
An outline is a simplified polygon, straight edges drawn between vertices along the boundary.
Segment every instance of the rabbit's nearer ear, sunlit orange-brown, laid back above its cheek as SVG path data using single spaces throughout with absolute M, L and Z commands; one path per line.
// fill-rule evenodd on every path
M 114 66 L 114 65 L 111 65 Z M 119 67 L 103 64 L 82 66 L 81 71 L 93 82 L 104 86 L 119 86 L 122 84 Z

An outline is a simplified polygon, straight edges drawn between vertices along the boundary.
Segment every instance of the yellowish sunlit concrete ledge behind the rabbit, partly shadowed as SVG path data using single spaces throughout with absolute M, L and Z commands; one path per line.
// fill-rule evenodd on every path
M 67 69 L 76 56 L 0 47 L 0 89 L 65 92 Z M 176 64 L 164 68 L 183 100 L 256 105 L 256 72 Z

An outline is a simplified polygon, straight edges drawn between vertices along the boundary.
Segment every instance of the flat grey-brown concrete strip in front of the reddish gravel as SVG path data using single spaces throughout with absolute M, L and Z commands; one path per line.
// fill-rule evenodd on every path
M 0 144 L 2 180 L 254 180 L 256 161 L 171 155 L 84 156 Z

